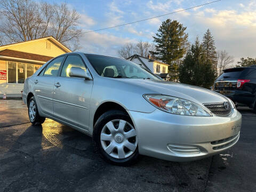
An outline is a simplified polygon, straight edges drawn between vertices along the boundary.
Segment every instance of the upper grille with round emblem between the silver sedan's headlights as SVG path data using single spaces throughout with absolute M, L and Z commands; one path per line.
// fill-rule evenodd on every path
M 225 102 L 221 103 L 204 103 L 204 106 L 210 109 L 210 111 L 219 116 L 227 116 L 231 112 L 231 104 L 229 101 L 226 101 L 227 106 L 225 107 Z

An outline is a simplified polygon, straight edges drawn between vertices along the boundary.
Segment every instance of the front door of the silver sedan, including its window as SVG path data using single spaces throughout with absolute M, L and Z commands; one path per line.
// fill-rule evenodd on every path
M 91 77 L 79 55 L 68 55 L 62 65 L 59 77 L 55 78 L 53 90 L 54 117 L 88 130 L 93 81 L 92 78 L 70 77 L 69 69 L 71 67 L 80 67 Z

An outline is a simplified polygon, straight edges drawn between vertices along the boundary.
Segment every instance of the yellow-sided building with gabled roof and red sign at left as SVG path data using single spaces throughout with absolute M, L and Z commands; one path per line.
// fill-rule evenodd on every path
M 21 97 L 25 79 L 45 62 L 71 52 L 54 37 L 0 46 L 0 97 Z

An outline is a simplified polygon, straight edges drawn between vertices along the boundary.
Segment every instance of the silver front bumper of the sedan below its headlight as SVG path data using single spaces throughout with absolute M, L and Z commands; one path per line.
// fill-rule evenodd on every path
M 127 111 L 137 131 L 139 153 L 167 161 L 193 161 L 235 145 L 242 115 L 233 109 L 226 117 L 173 115 Z

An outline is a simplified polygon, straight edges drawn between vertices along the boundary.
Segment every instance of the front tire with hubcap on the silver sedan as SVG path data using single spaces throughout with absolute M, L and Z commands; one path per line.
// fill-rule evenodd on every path
M 137 134 L 124 111 L 110 110 L 99 117 L 94 125 L 93 144 L 108 163 L 130 166 L 138 161 Z

